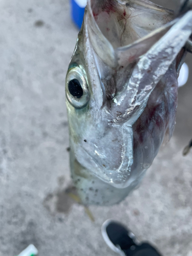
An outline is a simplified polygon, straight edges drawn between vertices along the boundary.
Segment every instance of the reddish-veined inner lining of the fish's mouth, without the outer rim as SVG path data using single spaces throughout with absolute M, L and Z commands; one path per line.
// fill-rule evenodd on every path
M 124 47 L 173 19 L 174 12 L 149 1 L 91 1 L 91 11 L 113 48 Z

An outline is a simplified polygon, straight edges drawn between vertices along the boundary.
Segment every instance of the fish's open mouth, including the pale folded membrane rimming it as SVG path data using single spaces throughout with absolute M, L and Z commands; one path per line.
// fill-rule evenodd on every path
M 97 55 L 116 68 L 146 53 L 173 26 L 173 18 L 172 10 L 147 0 L 88 0 L 84 25 Z

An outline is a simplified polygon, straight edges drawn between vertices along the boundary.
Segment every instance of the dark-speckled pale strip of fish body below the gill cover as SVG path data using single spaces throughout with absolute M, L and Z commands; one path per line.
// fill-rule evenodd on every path
M 129 187 L 117 188 L 102 181 L 90 169 L 83 167 L 70 152 L 71 176 L 83 205 L 109 206 L 120 203 L 141 182 L 145 172 L 137 180 L 132 179 Z

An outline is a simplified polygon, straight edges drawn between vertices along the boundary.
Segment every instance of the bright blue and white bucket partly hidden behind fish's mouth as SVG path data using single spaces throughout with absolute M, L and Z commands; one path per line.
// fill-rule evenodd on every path
M 71 16 L 75 25 L 80 29 L 82 25 L 84 8 L 87 0 L 71 0 Z

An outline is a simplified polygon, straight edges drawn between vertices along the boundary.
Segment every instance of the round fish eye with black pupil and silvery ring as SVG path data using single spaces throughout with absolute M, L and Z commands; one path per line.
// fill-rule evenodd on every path
M 66 77 L 66 95 L 68 101 L 77 109 L 83 108 L 89 101 L 89 90 L 85 74 L 80 67 L 71 68 Z

